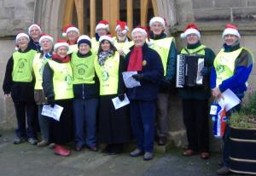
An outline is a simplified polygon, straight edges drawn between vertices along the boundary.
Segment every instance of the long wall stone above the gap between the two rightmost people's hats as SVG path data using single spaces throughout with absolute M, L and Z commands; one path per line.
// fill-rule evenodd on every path
M 230 9 L 195 9 L 193 11 L 197 21 L 230 20 Z

